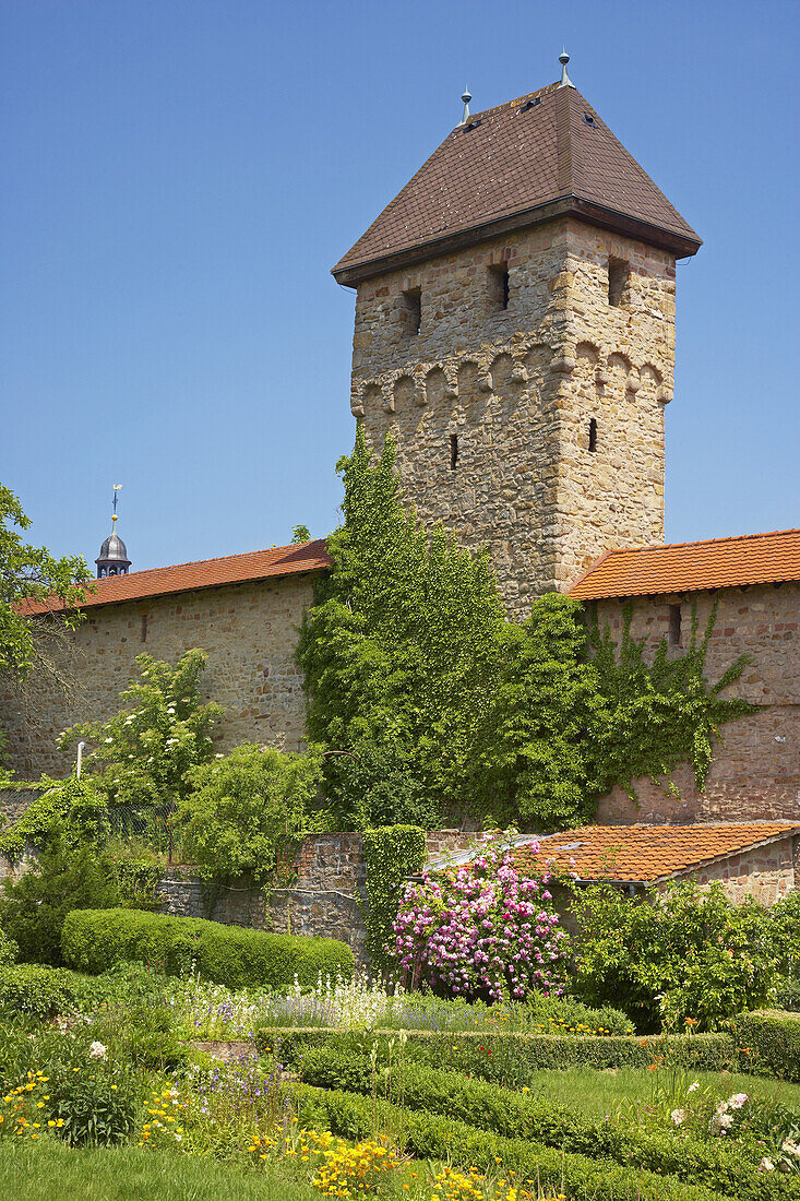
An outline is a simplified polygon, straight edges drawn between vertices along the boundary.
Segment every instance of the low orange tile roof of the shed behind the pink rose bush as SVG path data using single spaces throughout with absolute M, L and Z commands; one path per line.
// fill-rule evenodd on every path
M 652 884 L 793 833 L 800 835 L 800 823 L 581 826 L 539 836 L 538 856 L 523 846 L 515 852 L 514 862 L 520 867 L 541 867 L 553 859 L 560 867 L 575 871 L 584 882 Z

